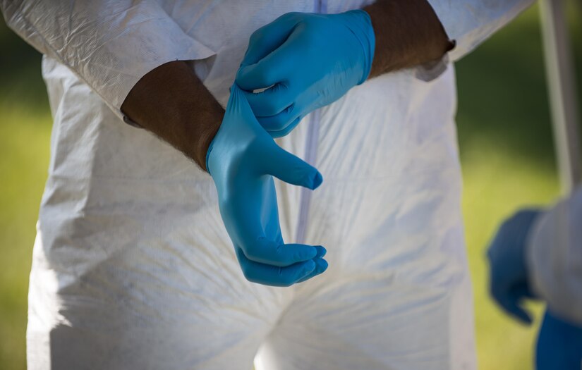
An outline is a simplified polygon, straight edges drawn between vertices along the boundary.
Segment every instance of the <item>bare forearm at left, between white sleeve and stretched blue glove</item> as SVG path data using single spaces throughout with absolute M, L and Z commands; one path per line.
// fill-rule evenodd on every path
M 166 63 L 147 73 L 121 110 L 206 171 L 206 152 L 224 109 L 186 62 Z

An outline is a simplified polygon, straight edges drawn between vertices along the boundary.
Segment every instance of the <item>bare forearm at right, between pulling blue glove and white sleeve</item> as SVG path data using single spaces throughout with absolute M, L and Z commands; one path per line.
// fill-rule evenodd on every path
M 453 46 L 426 0 L 378 0 L 363 10 L 376 36 L 369 78 L 435 61 Z

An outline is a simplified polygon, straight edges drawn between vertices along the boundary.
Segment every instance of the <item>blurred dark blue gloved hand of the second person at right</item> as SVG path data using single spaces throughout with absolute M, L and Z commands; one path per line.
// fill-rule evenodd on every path
M 534 298 L 526 270 L 526 240 L 540 213 L 525 209 L 504 221 L 487 251 L 490 293 L 508 314 L 523 323 L 531 323 L 531 316 L 521 306 L 522 301 Z

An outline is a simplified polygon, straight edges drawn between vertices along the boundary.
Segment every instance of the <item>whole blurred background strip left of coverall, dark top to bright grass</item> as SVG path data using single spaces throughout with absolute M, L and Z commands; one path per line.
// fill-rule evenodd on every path
M 40 54 L 4 23 L 0 46 L 0 369 L 25 369 L 28 273 L 51 117 Z

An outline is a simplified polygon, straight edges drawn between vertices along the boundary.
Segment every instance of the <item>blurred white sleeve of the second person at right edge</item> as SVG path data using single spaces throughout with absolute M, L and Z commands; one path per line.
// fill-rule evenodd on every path
M 552 312 L 582 324 L 582 187 L 535 222 L 526 263 L 533 291 Z

